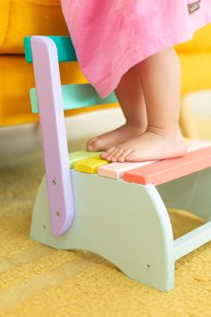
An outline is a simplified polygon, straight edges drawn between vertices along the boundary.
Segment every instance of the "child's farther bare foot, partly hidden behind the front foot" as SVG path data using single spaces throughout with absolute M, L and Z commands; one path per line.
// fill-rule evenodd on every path
M 146 127 L 123 124 L 119 128 L 105 134 L 101 134 L 87 143 L 87 150 L 108 150 L 118 144 L 135 138 L 146 131 Z

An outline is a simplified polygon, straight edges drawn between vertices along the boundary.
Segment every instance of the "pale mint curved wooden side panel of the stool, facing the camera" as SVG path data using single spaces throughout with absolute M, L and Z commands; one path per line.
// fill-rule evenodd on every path
M 156 188 L 71 170 L 72 227 L 51 233 L 45 177 L 38 189 L 30 236 L 56 249 L 87 250 L 113 262 L 130 278 L 169 291 L 174 259 L 171 222 Z

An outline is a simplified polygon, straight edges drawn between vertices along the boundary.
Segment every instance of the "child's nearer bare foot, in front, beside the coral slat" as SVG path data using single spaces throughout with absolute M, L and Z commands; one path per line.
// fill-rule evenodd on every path
M 187 145 L 179 129 L 176 133 L 153 129 L 106 150 L 101 158 L 111 162 L 137 162 L 176 158 L 186 151 Z

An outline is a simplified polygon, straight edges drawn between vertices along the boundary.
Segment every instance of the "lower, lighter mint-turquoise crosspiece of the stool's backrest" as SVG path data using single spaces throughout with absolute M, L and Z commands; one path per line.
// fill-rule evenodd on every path
M 63 110 L 79 109 L 118 102 L 114 92 L 105 99 L 101 99 L 96 90 L 89 84 L 63 85 Z M 38 113 L 38 98 L 35 88 L 30 89 L 30 103 L 33 113 Z

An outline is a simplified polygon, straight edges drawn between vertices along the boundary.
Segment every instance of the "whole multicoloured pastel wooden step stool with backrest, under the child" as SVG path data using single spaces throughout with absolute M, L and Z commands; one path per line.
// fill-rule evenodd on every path
M 58 62 L 75 61 L 70 37 L 24 39 L 34 67 L 33 112 L 42 124 L 46 166 L 30 236 L 56 249 L 87 250 L 128 277 L 162 291 L 174 284 L 174 263 L 211 238 L 211 145 L 190 141 L 178 159 L 111 163 L 99 153 L 68 154 L 63 109 L 117 101 L 89 84 L 61 86 Z M 168 208 L 190 210 L 205 224 L 173 240 Z

